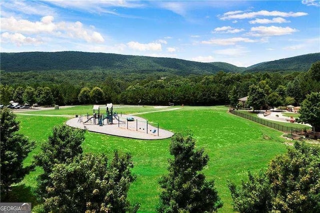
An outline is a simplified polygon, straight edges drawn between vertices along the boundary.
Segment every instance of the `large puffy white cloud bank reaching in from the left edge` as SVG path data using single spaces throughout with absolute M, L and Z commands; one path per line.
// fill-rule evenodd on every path
M 80 21 L 76 22 L 53 22 L 51 15 L 43 16 L 40 21 L 29 21 L 16 19 L 13 16 L 1 18 L 1 30 L 8 32 L 40 34 L 49 33 L 54 36 L 80 38 L 87 42 L 101 43 L 104 41 L 102 35 L 97 31 L 85 28 Z

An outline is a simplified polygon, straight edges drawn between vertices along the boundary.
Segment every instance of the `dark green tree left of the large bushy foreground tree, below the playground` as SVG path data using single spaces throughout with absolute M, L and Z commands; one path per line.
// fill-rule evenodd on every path
M 43 168 L 43 173 L 38 176 L 37 192 L 41 197 L 46 197 L 46 187 L 52 185 L 50 173 L 53 165 L 65 163 L 67 160 L 82 153 L 81 143 L 84 140 L 84 131 L 74 129 L 67 125 L 54 126 L 52 135 L 41 144 L 41 151 L 34 156 L 34 164 Z

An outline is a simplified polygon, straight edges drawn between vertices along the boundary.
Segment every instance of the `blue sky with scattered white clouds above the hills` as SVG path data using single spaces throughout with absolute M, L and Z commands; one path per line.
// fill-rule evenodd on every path
M 1 52 L 89 51 L 237 66 L 320 52 L 319 0 L 2 0 Z

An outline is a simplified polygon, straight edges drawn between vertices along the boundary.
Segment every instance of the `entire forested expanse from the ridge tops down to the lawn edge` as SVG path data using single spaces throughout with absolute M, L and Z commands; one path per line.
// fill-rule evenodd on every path
M 318 55 L 279 61 L 293 67 L 294 61 L 311 61 Z M 243 67 L 223 62 L 175 58 L 88 52 L 1 53 L 0 104 L 10 100 L 42 105 L 236 104 L 257 86 L 269 105 L 296 105 L 306 94 L 320 91 L 320 59 L 312 64 L 308 71 L 247 73 L 242 72 Z

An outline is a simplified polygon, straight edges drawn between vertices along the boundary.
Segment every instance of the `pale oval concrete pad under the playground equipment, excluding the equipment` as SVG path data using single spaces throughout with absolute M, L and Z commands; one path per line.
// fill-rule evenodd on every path
M 126 117 L 133 117 L 134 121 L 126 121 Z M 87 129 L 88 131 L 92 132 L 135 139 L 154 140 L 169 138 L 173 136 L 173 132 L 161 128 L 157 129 L 157 126 L 151 125 L 149 123 L 147 124 L 145 119 L 134 115 L 122 114 L 121 117 L 119 117 L 122 122 L 113 119 L 113 124 L 106 124 L 106 121 L 104 121 L 105 125 L 102 126 L 93 124 L 92 120 L 92 122 L 88 121 L 86 123 L 83 123 L 85 120 L 87 120 L 86 116 L 82 117 L 82 121 L 80 121 L 81 119 L 79 118 L 80 117 L 71 118 L 66 121 L 66 124 L 75 128 Z M 138 120 L 138 122 L 136 120 Z

